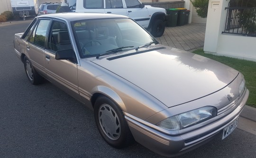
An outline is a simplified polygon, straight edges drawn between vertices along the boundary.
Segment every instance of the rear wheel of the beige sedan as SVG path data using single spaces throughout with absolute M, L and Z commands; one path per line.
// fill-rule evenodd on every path
M 27 58 L 27 56 L 24 57 L 24 68 L 27 75 L 27 79 L 33 85 L 38 85 L 43 82 L 44 79 L 37 73 L 37 71 L 31 64 L 30 60 Z

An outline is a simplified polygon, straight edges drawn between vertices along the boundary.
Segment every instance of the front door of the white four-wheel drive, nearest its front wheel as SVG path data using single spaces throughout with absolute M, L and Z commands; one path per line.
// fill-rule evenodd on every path
M 138 0 L 125 0 L 125 3 L 127 16 L 143 27 L 148 26 L 150 17 L 146 7 L 141 8 L 141 3 Z

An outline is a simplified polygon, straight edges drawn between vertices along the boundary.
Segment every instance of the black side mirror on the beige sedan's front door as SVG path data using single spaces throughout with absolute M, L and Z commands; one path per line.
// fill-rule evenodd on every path
M 56 60 L 69 60 L 77 63 L 73 49 L 57 51 L 55 54 Z

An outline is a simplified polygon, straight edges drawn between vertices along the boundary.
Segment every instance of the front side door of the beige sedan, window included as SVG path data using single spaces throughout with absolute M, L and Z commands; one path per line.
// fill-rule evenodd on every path
M 47 79 L 72 97 L 81 100 L 78 93 L 77 60 L 55 59 L 56 52 L 63 50 L 73 51 L 70 33 L 64 21 L 54 19 L 49 28 L 47 48 L 44 55 Z

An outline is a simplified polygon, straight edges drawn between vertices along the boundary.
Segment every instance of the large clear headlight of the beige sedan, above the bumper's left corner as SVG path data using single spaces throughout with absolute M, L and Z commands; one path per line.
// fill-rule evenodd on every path
M 212 106 L 205 106 L 186 113 L 177 114 L 157 123 L 156 125 L 167 130 L 178 131 L 195 124 L 209 120 L 217 115 L 217 109 Z

